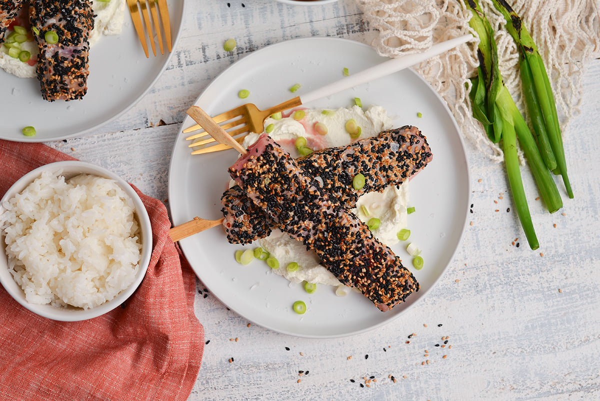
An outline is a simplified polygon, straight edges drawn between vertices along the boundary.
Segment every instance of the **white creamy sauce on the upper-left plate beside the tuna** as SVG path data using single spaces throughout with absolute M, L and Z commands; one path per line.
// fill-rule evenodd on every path
M 92 8 L 96 17 L 94 19 L 94 29 L 89 35 L 90 46 L 94 46 L 103 35 L 121 34 L 125 17 L 125 6 L 125 1 L 119 0 L 92 2 Z M 7 35 L 10 32 L 7 31 Z M 22 50 L 27 50 L 31 53 L 32 59 L 37 58 L 38 46 L 35 40 L 23 42 L 21 46 Z M 0 68 L 19 78 L 35 78 L 37 76 L 35 72 L 37 64 L 29 65 L 27 62 L 22 62 L 18 58 L 9 56 L 8 47 L 4 46 L 4 44 L 0 45 Z

